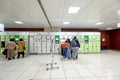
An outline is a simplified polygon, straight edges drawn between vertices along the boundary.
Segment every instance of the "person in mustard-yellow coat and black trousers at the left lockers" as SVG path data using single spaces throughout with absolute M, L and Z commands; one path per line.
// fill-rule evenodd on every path
M 18 56 L 17 56 L 18 59 L 20 58 L 20 54 L 22 54 L 22 57 L 24 58 L 24 55 L 25 55 L 24 48 L 25 48 L 25 42 L 21 38 L 18 41 Z

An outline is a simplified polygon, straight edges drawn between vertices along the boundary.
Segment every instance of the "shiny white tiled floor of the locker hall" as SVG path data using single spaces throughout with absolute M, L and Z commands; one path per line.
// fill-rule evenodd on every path
M 54 55 L 59 69 L 50 68 L 50 55 L 0 61 L 0 80 L 120 80 L 120 52 L 79 54 L 78 60 Z

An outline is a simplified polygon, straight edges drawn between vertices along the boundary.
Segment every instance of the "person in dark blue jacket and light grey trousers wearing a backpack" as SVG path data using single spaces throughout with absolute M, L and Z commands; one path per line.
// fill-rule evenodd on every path
M 80 43 L 76 37 L 71 41 L 72 46 L 72 58 L 75 60 L 78 58 L 78 50 L 80 48 Z

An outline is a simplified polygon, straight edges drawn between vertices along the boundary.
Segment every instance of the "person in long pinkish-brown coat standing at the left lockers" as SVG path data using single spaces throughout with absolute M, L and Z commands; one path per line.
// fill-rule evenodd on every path
M 14 50 L 15 47 L 16 47 L 16 43 L 14 42 L 14 39 L 10 39 L 10 41 L 6 44 L 8 60 L 15 58 L 15 50 Z

